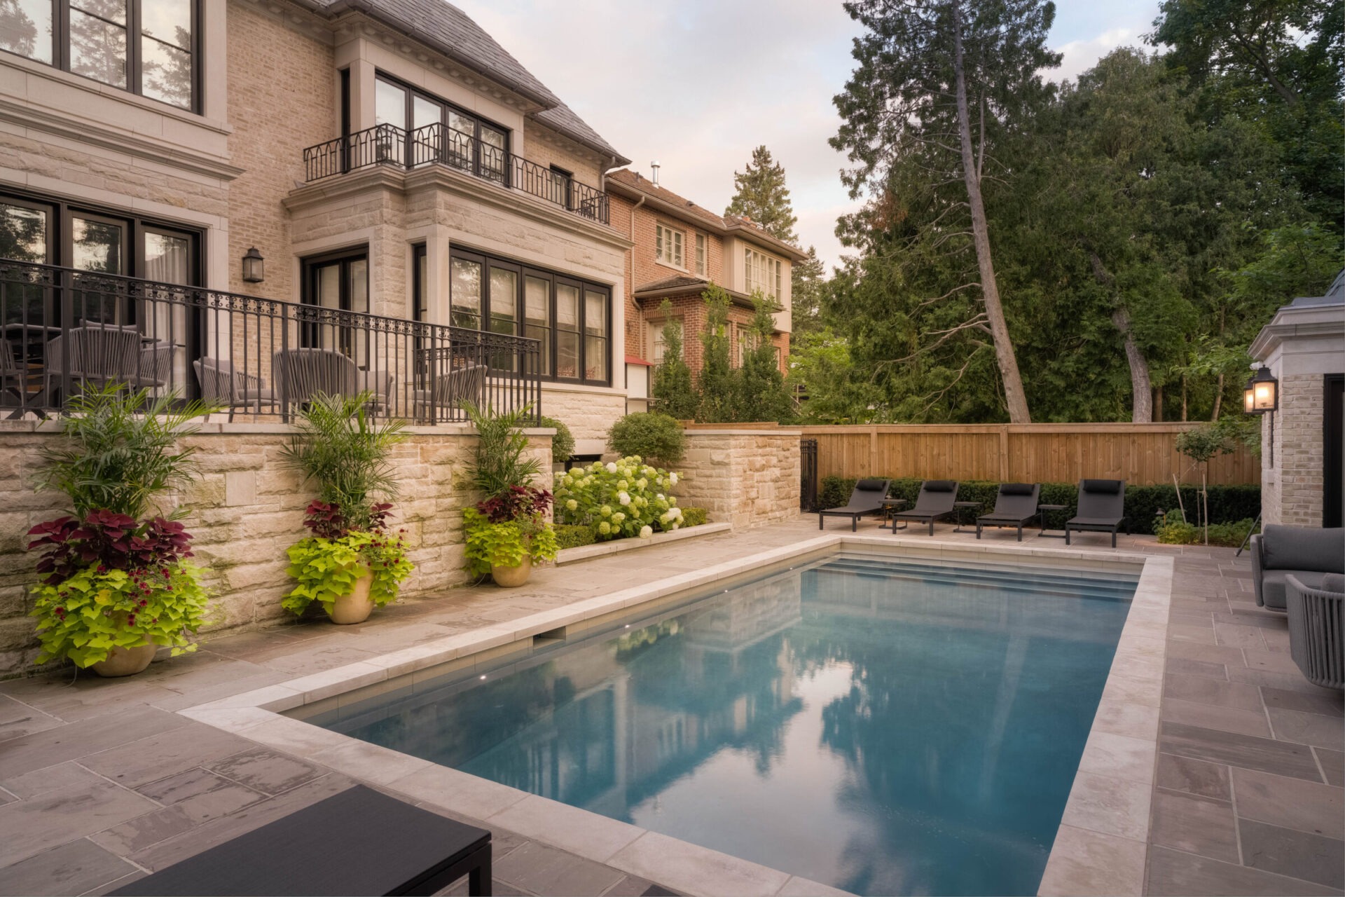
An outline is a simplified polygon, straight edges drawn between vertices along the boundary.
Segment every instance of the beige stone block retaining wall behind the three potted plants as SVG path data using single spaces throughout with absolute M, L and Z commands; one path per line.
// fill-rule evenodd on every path
M 42 520 L 67 514 L 59 492 L 35 492 L 38 453 L 54 438 L 34 424 L 0 429 L 0 675 L 22 672 L 36 656 L 30 586 L 36 555 L 24 550 L 24 534 Z M 285 549 L 304 535 L 304 508 L 312 485 L 280 463 L 291 428 L 282 424 L 206 424 L 186 438 L 196 448 L 199 476 L 182 495 L 183 520 L 195 537 L 198 563 L 211 570 L 217 619 L 211 631 L 254 628 L 285 617 L 280 601 L 289 590 Z M 412 428 L 397 446 L 401 476 L 394 526 L 406 529 L 416 572 L 406 596 L 443 592 L 465 581 L 463 508 L 475 496 L 464 480 L 476 437 L 471 428 Z M 550 430 L 530 433 L 530 451 L 550 469 Z M 550 485 L 549 483 L 545 485 Z

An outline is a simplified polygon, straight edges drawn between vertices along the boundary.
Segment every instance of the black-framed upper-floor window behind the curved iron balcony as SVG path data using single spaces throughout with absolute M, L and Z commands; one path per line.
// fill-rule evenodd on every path
M 383 73 L 374 81 L 374 122 L 412 134 L 408 160 L 412 165 L 438 161 L 506 186 L 510 183 L 510 132 L 506 128 Z M 421 130 L 428 125 L 444 126 Z M 389 159 L 405 159 L 404 140 L 399 134 L 389 134 L 378 152 L 387 153 Z

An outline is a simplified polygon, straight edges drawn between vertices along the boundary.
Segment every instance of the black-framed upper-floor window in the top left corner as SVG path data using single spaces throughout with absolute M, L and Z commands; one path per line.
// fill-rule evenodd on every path
M 199 112 L 199 0 L 0 0 L 0 50 Z

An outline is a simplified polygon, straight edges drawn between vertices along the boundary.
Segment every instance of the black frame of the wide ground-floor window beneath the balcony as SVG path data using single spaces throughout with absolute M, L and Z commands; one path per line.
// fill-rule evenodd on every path
M 490 269 L 502 268 L 508 270 L 519 272 L 519 277 L 515 281 L 515 295 L 514 295 L 514 321 L 515 321 L 515 335 L 523 336 L 527 334 L 527 278 L 533 277 L 535 280 L 545 280 L 550 282 L 550 292 L 547 295 L 547 368 L 541 371 L 541 378 L 549 383 L 576 383 L 581 386 L 611 386 L 612 385 L 612 344 L 613 344 L 613 313 L 612 313 L 612 286 L 608 284 L 600 284 L 597 281 L 585 280 L 582 277 L 574 277 L 573 274 L 565 274 L 562 272 L 547 270 L 545 268 L 538 268 L 535 265 L 529 265 L 526 262 L 519 262 L 512 258 L 503 256 L 495 256 L 492 253 L 483 253 L 473 249 L 459 249 L 456 246 L 449 249 L 449 265 L 453 260 L 463 260 L 467 262 L 479 264 L 482 266 L 482 312 L 480 321 L 483 327 L 482 332 L 495 332 L 490 329 L 491 321 L 491 304 L 500 301 L 499 297 L 491 293 L 490 288 Z M 578 296 L 578 319 L 576 321 L 578 334 L 578 359 L 577 359 L 577 377 L 558 377 L 555 374 L 557 364 L 557 331 L 560 328 L 560 321 L 557 320 L 557 284 L 564 284 L 573 286 Z M 452 317 L 452 278 L 449 278 L 449 296 L 448 308 Z M 585 371 L 588 370 L 586 359 L 586 316 L 588 316 L 588 303 L 585 301 L 585 293 L 601 293 L 607 309 L 607 329 L 600 338 L 605 346 L 605 370 L 607 377 L 604 379 L 588 378 Z

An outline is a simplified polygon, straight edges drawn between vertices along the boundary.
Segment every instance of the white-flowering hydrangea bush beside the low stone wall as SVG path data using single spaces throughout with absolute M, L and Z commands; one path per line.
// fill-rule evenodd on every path
M 599 542 L 671 533 L 682 526 L 678 479 L 639 455 L 570 468 L 555 479 L 555 522 L 592 526 Z

